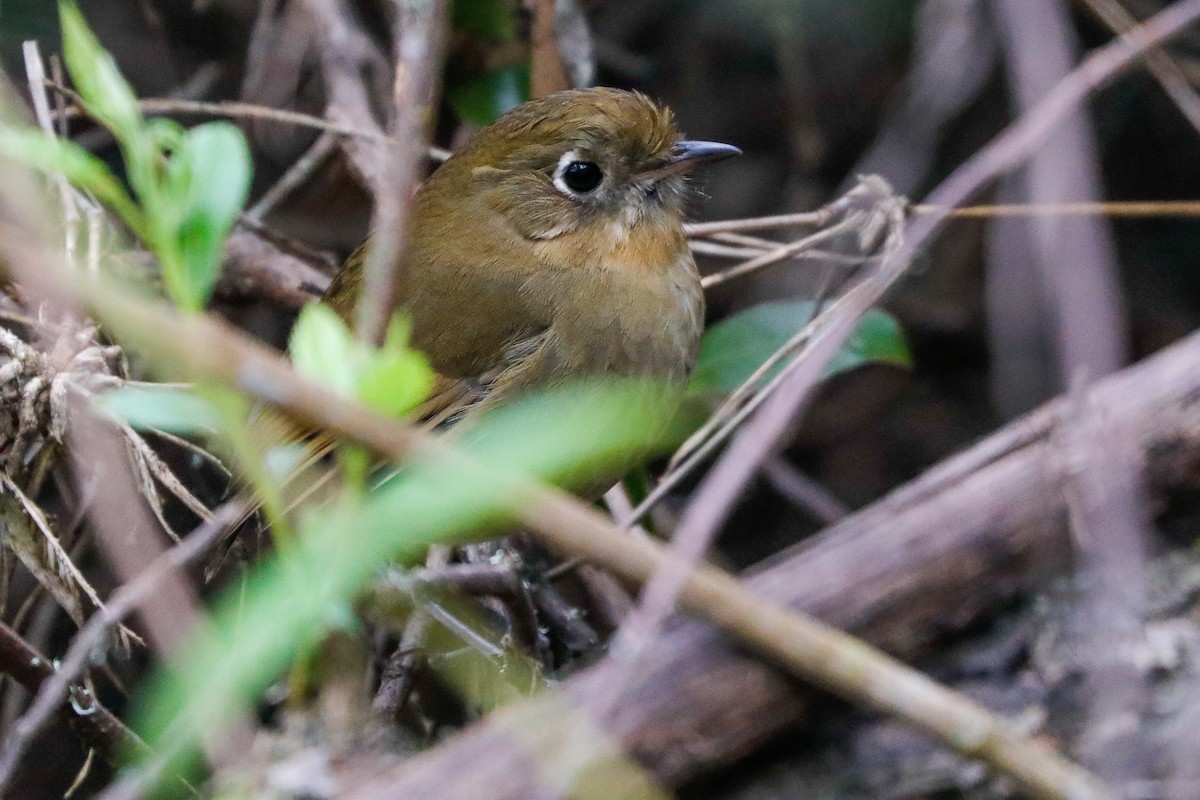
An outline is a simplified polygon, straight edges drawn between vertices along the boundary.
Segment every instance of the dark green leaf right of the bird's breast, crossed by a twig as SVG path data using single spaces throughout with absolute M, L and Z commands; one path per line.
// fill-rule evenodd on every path
M 704 332 L 689 395 L 728 395 L 770 355 L 808 324 L 809 300 L 768 302 L 738 312 Z M 866 312 L 853 335 L 826 367 L 826 375 L 865 363 L 912 366 L 912 354 L 900 325 L 887 312 Z M 764 380 L 778 374 L 782 365 Z

